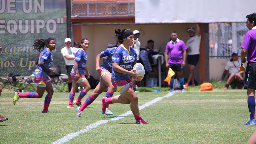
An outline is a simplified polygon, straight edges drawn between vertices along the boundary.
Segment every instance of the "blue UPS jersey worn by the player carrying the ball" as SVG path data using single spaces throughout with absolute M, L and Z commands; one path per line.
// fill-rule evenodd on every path
M 132 70 L 132 63 L 137 62 L 137 53 L 132 47 L 127 50 L 124 45 L 121 44 L 114 51 L 112 62 L 117 62 L 123 69 L 130 71 Z M 129 79 L 130 77 L 129 74 L 119 73 L 112 68 L 111 78 Z

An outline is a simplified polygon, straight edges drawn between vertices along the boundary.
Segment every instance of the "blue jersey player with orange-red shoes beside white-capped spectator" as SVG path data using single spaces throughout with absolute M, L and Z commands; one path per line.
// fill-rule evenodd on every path
M 71 78 L 73 81 L 72 81 L 72 88 L 69 93 L 69 105 L 67 106 L 67 108 L 75 108 L 73 106 L 73 103 L 76 104 L 78 107 L 81 107 L 82 106 L 81 99 L 91 89 L 89 82 L 84 76 L 84 71 L 86 71 L 87 78 L 90 78 L 90 73 L 86 67 L 87 58 L 88 58 L 86 50 L 89 48 L 89 40 L 87 38 L 83 38 L 81 40 L 81 46 L 82 48 L 80 48 L 76 52 L 75 65 L 72 67 L 72 70 L 71 70 Z M 81 91 L 79 97 L 73 102 L 77 88 L 80 85 L 84 87 L 84 89 L 83 91 Z

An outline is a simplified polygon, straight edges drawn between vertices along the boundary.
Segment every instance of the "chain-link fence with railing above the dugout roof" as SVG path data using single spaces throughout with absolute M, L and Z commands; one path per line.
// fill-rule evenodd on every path
M 134 9 L 134 0 L 71 0 L 71 16 L 131 16 Z

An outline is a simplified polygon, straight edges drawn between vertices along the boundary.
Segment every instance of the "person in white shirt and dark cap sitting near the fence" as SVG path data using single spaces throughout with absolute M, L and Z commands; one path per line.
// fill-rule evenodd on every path
M 227 61 L 224 73 L 222 75 L 222 80 L 223 80 L 227 72 L 229 71 L 228 80 L 224 90 L 227 90 L 229 88 L 230 83 L 233 81 L 239 81 L 241 84 L 244 85 L 244 78 L 242 74 L 245 72 L 245 70 L 240 71 L 239 66 L 240 66 L 240 60 L 238 59 L 237 52 L 234 51 L 232 53 L 231 60 Z M 222 80 L 220 80 L 219 82 L 221 82 Z

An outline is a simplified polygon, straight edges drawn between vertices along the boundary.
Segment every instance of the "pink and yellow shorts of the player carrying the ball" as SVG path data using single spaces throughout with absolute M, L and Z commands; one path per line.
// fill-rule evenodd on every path
M 129 87 L 133 89 L 132 77 L 130 77 L 129 79 L 112 79 L 111 78 L 111 83 L 116 88 L 116 90 L 120 93 L 123 93 Z

